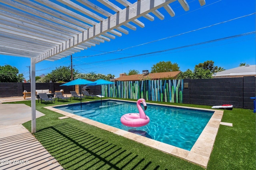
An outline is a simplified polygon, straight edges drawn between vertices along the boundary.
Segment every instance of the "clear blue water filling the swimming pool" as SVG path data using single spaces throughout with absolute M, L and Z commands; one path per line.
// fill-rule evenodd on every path
M 84 103 L 82 108 L 80 104 L 55 108 L 186 150 L 193 147 L 214 113 L 148 103 L 147 107 L 145 113 L 150 117 L 150 122 L 146 126 L 136 128 L 124 126 L 120 122 L 122 115 L 138 113 L 136 103 L 133 102 L 104 100 L 102 105 L 97 101 Z

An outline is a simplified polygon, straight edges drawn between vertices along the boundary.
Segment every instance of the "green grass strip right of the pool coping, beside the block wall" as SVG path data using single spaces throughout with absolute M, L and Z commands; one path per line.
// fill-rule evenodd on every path
M 224 111 L 222 121 L 233 123 L 233 127 L 220 125 L 208 168 L 255 170 L 255 113 L 235 108 Z

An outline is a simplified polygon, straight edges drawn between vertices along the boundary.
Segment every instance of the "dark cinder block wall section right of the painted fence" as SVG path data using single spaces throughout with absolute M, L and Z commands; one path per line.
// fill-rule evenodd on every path
M 254 76 L 240 78 L 185 79 L 183 103 L 219 106 L 232 104 L 237 108 L 252 109 L 255 97 Z

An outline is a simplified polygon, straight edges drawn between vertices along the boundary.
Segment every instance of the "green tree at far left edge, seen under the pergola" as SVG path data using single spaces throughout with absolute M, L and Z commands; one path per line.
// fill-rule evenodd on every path
M 11 65 L 0 66 L 0 82 L 23 82 L 23 74 L 18 74 L 18 68 Z

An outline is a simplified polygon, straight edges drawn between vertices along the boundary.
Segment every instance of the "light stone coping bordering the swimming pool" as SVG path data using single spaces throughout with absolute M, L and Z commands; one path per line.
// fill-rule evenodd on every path
M 104 100 L 117 100 L 117 99 L 104 99 Z M 128 100 L 117 100 L 117 101 L 128 101 Z M 134 102 L 134 101 L 128 101 L 128 102 Z M 86 103 L 86 102 L 83 102 L 83 103 Z M 149 104 L 154 104 L 154 103 L 149 103 Z M 66 105 L 70 105 L 70 104 L 63 104 L 63 105 L 58 105 L 58 106 L 66 106 Z M 66 111 L 56 109 L 56 108 L 54 108 L 56 106 L 46 106 L 44 108 L 49 109 L 51 111 L 55 111 L 62 115 L 68 116 L 70 118 L 82 121 L 84 123 L 93 125 L 100 129 L 110 131 L 112 133 L 115 133 L 116 135 L 121 135 L 123 137 L 131 139 L 138 143 L 142 143 L 143 145 L 146 145 L 148 147 L 152 147 L 154 149 L 161 150 L 162 152 L 172 154 L 174 156 L 177 156 L 179 158 L 182 158 L 184 160 L 193 162 L 193 163 L 198 164 L 204 168 L 207 168 L 207 164 L 208 164 L 210 154 L 211 154 L 213 146 L 214 146 L 214 142 L 216 139 L 216 135 L 218 133 L 218 129 L 219 129 L 220 122 L 221 122 L 224 111 L 223 110 L 215 110 L 215 109 L 202 109 L 202 108 L 197 108 L 197 107 L 174 106 L 174 105 L 168 105 L 168 104 L 156 104 L 156 105 L 214 111 L 214 113 L 213 113 L 212 117 L 210 118 L 210 120 L 208 121 L 206 127 L 204 128 L 204 130 L 198 137 L 196 143 L 194 144 L 192 149 L 189 151 L 189 150 L 181 149 L 179 147 L 174 147 L 174 146 L 166 144 L 166 143 L 155 141 L 154 139 L 149 139 L 147 137 L 143 137 L 143 136 L 140 136 L 140 135 L 137 135 L 134 133 L 130 133 L 128 131 L 118 129 L 118 128 L 112 127 L 110 125 L 106 125 L 106 124 L 103 124 L 103 123 L 100 123 L 100 122 L 97 122 L 94 120 L 90 120 L 90 119 L 87 119 L 82 116 L 78 116 L 78 115 L 75 115 L 72 113 L 68 113 Z

